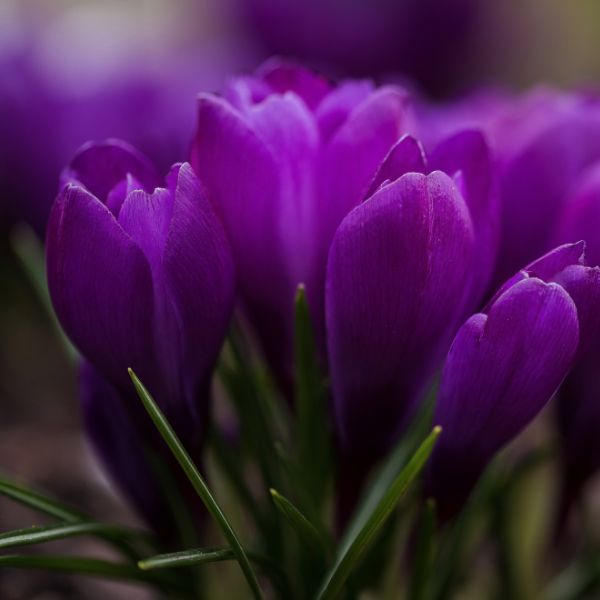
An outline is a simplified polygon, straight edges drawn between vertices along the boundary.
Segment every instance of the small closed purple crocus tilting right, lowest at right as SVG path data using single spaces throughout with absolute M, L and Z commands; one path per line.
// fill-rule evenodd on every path
M 457 333 L 426 485 L 444 517 L 460 510 L 492 456 L 550 400 L 597 331 L 600 268 L 585 266 L 583 252 L 583 242 L 560 246 L 519 271 Z

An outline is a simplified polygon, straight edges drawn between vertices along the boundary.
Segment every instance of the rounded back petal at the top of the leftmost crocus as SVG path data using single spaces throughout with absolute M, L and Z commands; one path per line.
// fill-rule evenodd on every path
M 61 183 L 83 185 L 105 201 L 109 192 L 127 175 L 132 175 L 146 191 L 159 179 L 152 163 L 138 150 L 121 140 L 85 144 L 61 174 Z

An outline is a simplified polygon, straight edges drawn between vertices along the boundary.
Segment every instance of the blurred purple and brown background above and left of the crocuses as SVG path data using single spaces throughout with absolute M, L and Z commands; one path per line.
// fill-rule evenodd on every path
M 36 289 L 58 174 L 85 141 L 107 137 L 166 171 L 186 157 L 195 94 L 272 54 L 333 77 L 406 81 L 433 99 L 481 86 L 594 86 L 600 3 L 0 0 L 1 471 L 99 518 L 134 519 L 80 435 L 74 369 Z M 34 522 L 0 500 L 0 531 Z M 107 586 L 0 572 L 6 599 L 146 597 Z

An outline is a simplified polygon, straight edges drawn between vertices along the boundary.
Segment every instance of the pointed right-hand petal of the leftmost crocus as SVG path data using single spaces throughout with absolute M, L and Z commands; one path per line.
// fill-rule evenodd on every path
M 235 273 L 223 226 L 188 164 L 177 175 L 163 269 L 167 295 L 176 307 L 177 347 L 182 350 L 177 364 L 185 374 L 184 395 L 202 422 L 211 371 L 233 311 Z M 169 352 L 165 347 L 163 362 L 173 360 Z M 204 398 L 196 397 L 198 390 Z

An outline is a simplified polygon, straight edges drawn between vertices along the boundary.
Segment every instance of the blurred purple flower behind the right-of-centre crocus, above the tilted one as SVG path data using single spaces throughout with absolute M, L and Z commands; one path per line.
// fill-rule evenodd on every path
M 600 101 L 591 94 L 488 92 L 430 111 L 421 125 L 430 143 L 476 125 L 490 139 L 502 205 L 495 285 L 552 248 L 573 185 L 600 158 Z

